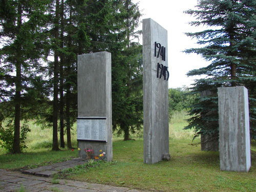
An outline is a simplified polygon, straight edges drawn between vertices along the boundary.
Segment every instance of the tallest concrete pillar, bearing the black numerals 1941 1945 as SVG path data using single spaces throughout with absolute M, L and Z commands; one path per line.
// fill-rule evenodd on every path
M 167 31 L 151 18 L 143 19 L 144 163 L 169 154 L 168 81 L 157 78 L 157 63 L 168 67 Z M 155 57 L 155 42 L 166 48 L 165 61 Z

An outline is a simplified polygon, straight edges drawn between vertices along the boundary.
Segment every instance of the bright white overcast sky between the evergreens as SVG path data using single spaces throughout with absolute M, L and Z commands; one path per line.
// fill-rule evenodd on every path
M 202 77 L 187 77 L 186 73 L 209 64 L 200 55 L 182 52 L 185 49 L 198 47 L 196 39 L 191 39 L 184 33 L 203 30 L 202 27 L 189 26 L 188 23 L 195 18 L 183 13 L 185 10 L 195 9 L 197 0 L 133 0 L 133 3 L 138 2 L 143 14 L 141 22 L 144 18 L 152 18 L 168 31 L 169 88 L 191 87 L 190 84 L 194 83 L 194 79 Z M 142 23 L 139 29 L 142 29 Z M 142 44 L 142 37 L 140 43 Z

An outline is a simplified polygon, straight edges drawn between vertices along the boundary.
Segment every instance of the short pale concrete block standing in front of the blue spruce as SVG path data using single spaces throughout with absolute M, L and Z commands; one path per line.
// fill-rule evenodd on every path
M 248 172 L 251 166 L 248 91 L 218 88 L 220 168 Z

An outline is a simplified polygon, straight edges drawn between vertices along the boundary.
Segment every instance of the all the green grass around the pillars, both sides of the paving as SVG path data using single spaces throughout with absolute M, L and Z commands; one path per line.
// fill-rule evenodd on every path
M 200 145 L 189 145 L 193 131 L 182 130 L 186 118 L 184 113 L 175 113 L 170 123 L 170 161 L 144 164 L 143 133 L 133 135 L 134 140 L 129 141 L 122 141 L 114 134 L 113 162 L 100 163 L 87 169 L 76 168 L 73 172 L 67 172 L 65 177 L 150 191 L 256 191 L 256 157 L 251 158 L 249 173 L 221 171 L 218 152 L 202 152 Z M 0 168 L 33 167 L 70 159 L 78 154 L 77 150 L 51 152 L 49 130 L 41 131 L 33 127 L 30 134 L 27 141 L 29 148 L 24 154 L 0 152 Z M 75 135 L 74 132 L 73 138 Z M 197 139 L 194 143 L 199 141 Z M 73 146 L 76 147 L 75 140 Z M 256 151 L 256 148 L 252 150 Z

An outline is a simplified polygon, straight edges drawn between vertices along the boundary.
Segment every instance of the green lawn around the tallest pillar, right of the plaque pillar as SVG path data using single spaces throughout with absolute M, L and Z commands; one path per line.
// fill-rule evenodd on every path
M 191 146 L 194 132 L 183 130 L 188 117 L 175 113 L 169 126 L 170 161 L 143 163 L 143 139 L 113 142 L 114 163 L 76 169 L 68 179 L 153 191 L 256 191 L 256 158 L 249 173 L 220 170 L 218 152 L 202 152 Z M 194 143 L 199 142 L 194 140 Z M 254 148 L 255 150 L 255 148 Z

